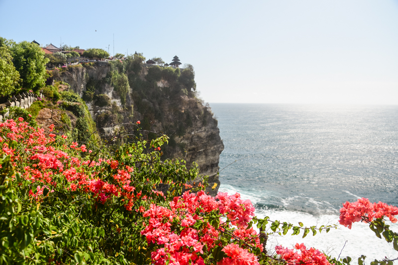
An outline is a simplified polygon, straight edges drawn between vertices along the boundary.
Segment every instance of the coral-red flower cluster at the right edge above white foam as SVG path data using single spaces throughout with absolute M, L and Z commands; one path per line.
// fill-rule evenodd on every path
M 372 222 L 375 218 L 388 217 L 393 223 L 397 222 L 398 207 L 387 205 L 387 203 L 379 201 L 379 203 L 371 203 L 367 198 L 360 198 L 356 202 L 346 202 L 340 209 L 339 223 L 351 229 L 352 223 L 355 222 Z

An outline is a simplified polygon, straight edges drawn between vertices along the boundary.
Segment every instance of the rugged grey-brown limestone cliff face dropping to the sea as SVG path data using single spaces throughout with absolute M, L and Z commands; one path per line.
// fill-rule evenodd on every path
M 187 166 L 198 163 L 200 174 L 209 176 L 210 185 L 206 191 L 215 195 L 220 184 L 217 176 L 219 156 L 224 149 L 217 120 L 208 105 L 184 89 L 178 77 L 164 75 L 153 80 L 151 71 L 153 69 L 143 67 L 139 72 L 136 70 L 137 73 L 125 72 L 130 88 L 124 105 L 109 82 L 111 67 L 73 68 L 62 73 L 61 79 L 86 100 L 97 127 L 103 128 L 103 137 L 117 130 L 110 124 L 140 120 L 143 129 L 163 132 L 170 137 L 168 146 L 162 147 L 164 158 L 185 159 Z M 88 91 L 94 92 L 92 100 L 85 96 Z M 100 98 L 108 101 L 103 103 Z M 147 136 L 155 137 L 153 133 Z M 212 190 L 214 183 L 217 187 Z

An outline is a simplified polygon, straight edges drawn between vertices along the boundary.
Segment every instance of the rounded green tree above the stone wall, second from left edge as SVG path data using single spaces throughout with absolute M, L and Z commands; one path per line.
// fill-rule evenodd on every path
M 15 69 L 22 80 L 22 88 L 37 90 L 45 84 L 48 58 L 41 48 L 33 43 L 22 41 L 12 44 L 11 55 Z

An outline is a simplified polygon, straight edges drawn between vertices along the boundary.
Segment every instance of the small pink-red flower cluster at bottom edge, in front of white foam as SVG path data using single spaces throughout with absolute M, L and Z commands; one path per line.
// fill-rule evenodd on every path
M 281 256 L 281 259 L 290 264 L 329 265 L 326 256 L 317 249 L 307 250 L 303 243 L 296 243 L 295 249 L 300 252 L 282 246 L 275 247 L 276 253 Z

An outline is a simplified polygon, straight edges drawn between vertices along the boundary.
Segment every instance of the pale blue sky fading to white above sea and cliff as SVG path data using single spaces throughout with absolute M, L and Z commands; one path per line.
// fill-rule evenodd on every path
M 0 36 L 177 55 L 206 102 L 398 104 L 398 0 L 0 0 Z

